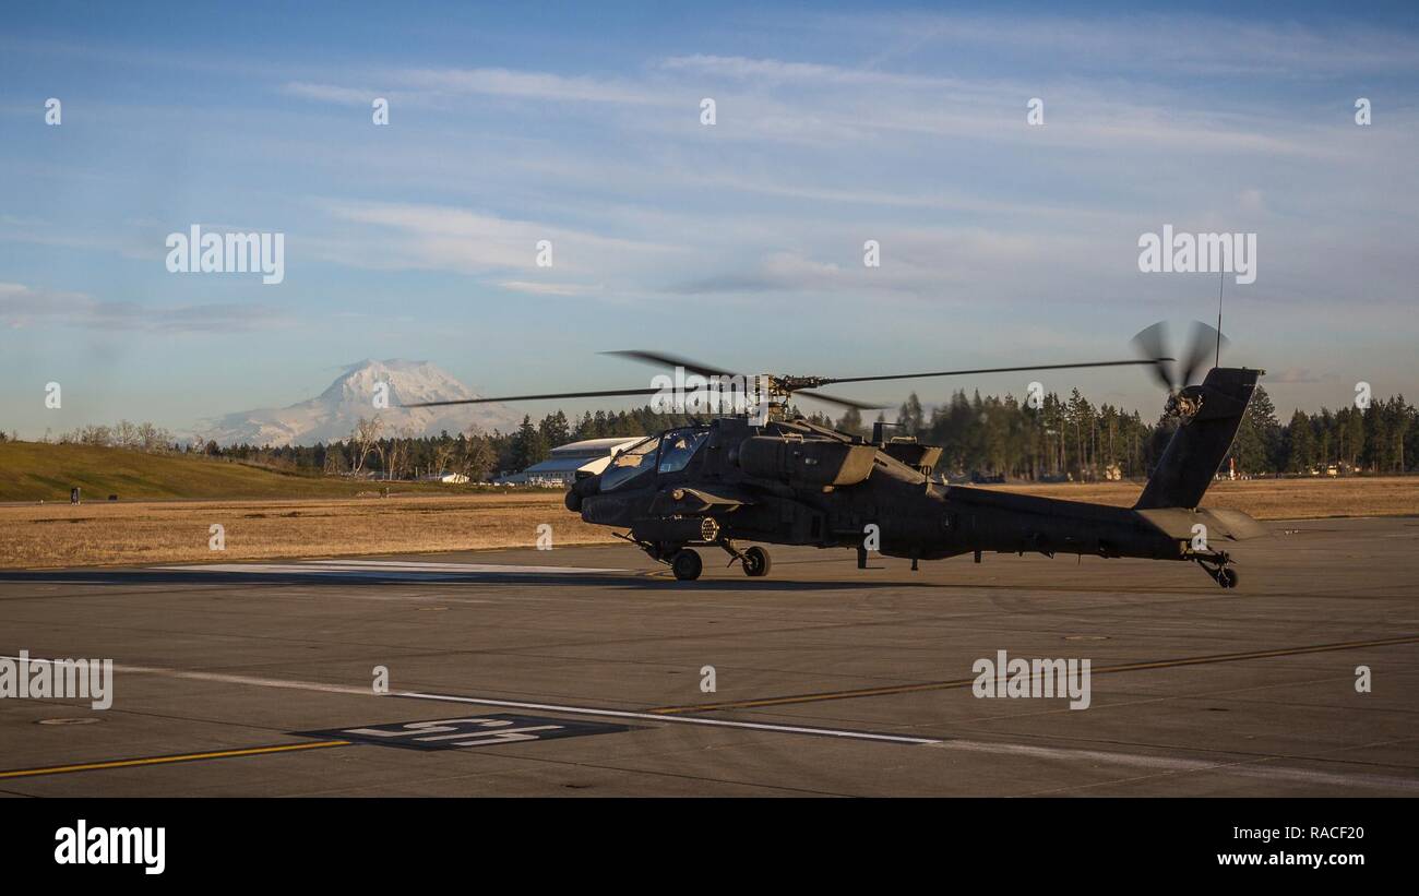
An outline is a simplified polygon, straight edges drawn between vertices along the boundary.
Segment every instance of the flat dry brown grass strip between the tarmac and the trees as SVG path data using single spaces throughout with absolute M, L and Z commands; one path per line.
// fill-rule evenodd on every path
M 985 486 L 1131 505 L 1134 483 Z M 1218 482 L 1205 502 L 1259 519 L 1419 513 L 1419 476 Z M 207 547 L 226 527 L 224 553 Z M 613 540 L 556 493 L 292 500 L 94 502 L 0 506 L 0 567 L 203 563 L 531 546 L 539 523 L 556 544 Z

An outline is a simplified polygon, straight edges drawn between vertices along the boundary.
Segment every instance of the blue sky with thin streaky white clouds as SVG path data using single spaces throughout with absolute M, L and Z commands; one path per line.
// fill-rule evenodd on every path
M 491 394 L 648 384 L 597 354 L 627 347 L 829 376 L 1125 357 L 1216 312 L 1215 275 L 1138 271 L 1164 224 L 1257 234 L 1225 360 L 1283 415 L 1358 380 L 1413 398 L 1416 88 L 1403 6 L 16 9 L 0 427 L 183 430 L 362 357 Z M 285 281 L 169 274 L 194 223 L 284 233 Z M 1030 379 L 1159 405 L 1135 370 L 912 386 Z

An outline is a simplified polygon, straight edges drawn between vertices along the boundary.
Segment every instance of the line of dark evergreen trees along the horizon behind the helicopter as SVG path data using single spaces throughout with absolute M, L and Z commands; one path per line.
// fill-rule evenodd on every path
M 548 458 L 551 449 L 587 438 L 634 437 L 684 425 L 683 414 L 660 414 L 650 407 L 627 411 L 587 411 L 572 420 L 562 411 L 539 421 L 531 415 L 512 432 L 441 432 L 414 437 L 386 432 L 377 417 L 360 420 L 346 439 L 318 445 L 221 447 L 180 444 L 152 424 L 119 422 L 84 427 L 64 434 L 61 442 L 109 445 L 139 451 L 206 454 L 267 466 L 407 479 L 429 474 L 463 474 L 485 482 L 501 472 L 525 469 Z M 857 410 L 839 418 L 812 414 L 809 420 L 849 434 L 870 435 L 871 427 Z M 1043 396 L 1039 408 L 1013 396 L 966 396 L 964 390 L 929 411 L 912 393 L 888 421 L 888 435 L 911 435 L 941 445 L 938 472 L 948 475 L 1005 475 L 1019 479 L 1094 481 L 1117 475 L 1147 476 L 1162 454 L 1175 421 L 1144 420 L 1138 411 L 1111 404 L 1095 405 L 1078 390 L 1067 398 Z M 1232 447 L 1240 475 L 1305 475 L 1328 472 L 1410 472 L 1419 468 L 1416 410 L 1403 396 L 1376 400 L 1366 408 L 1297 410 L 1288 422 L 1276 417 L 1266 390 L 1257 387 Z

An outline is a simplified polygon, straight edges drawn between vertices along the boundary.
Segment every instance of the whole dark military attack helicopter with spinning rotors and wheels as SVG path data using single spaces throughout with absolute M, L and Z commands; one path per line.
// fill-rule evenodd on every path
M 1037 364 L 982 370 L 939 370 L 868 377 L 758 374 L 758 407 L 651 435 L 617 454 L 600 474 L 578 479 L 566 506 L 617 533 L 653 559 L 670 564 L 675 578 L 698 578 L 697 547 L 718 547 L 748 576 L 769 573 L 769 554 L 738 542 L 856 547 L 866 567 L 867 542 L 885 556 L 939 560 L 985 551 L 1091 554 L 1198 563 L 1223 588 L 1235 587 L 1232 559 L 1213 543 L 1266 534 L 1237 510 L 1199 509 L 1209 482 L 1226 457 L 1261 370 L 1213 367 L 1189 384 L 1208 353 L 1212 327 L 1195 325 L 1181 371 L 1164 356 L 1161 325 L 1135 337 L 1144 360 Z M 653 352 L 617 352 L 653 364 L 681 367 L 711 384 L 749 377 Z M 873 438 L 837 432 L 790 415 L 795 394 L 844 407 L 868 403 L 829 396 L 820 387 L 924 377 L 1026 370 L 1064 370 L 1149 364 L 1168 387 L 1165 414 L 1178 427 L 1132 508 L 1015 495 L 932 481 L 941 448 L 912 438 L 888 438 L 878 424 Z M 668 380 L 668 377 L 661 377 Z M 407 407 L 653 396 L 651 388 L 597 390 L 501 398 L 430 401 Z M 876 529 L 873 529 L 876 527 Z M 1200 534 L 1200 537 L 1199 537 Z

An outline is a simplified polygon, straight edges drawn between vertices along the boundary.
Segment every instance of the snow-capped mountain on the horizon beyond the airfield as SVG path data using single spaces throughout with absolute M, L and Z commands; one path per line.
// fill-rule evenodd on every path
M 379 383 L 389 384 L 389 407 L 376 408 Z M 501 404 L 464 404 L 453 407 L 403 408 L 419 401 L 477 398 L 477 393 L 429 362 L 365 360 L 345 369 L 329 388 L 315 398 L 284 408 L 238 411 L 199 424 L 203 439 L 221 445 L 314 445 L 349 438 L 360 417 L 379 415 L 385 435 L 438 435 L 447 430 L 457 435 L 470 424 L 484 431 L 508 432 L 522 414 Z

